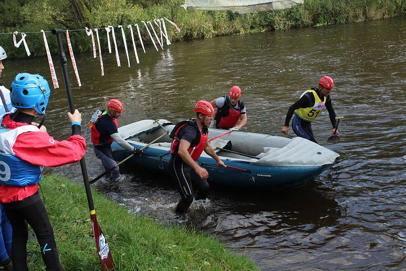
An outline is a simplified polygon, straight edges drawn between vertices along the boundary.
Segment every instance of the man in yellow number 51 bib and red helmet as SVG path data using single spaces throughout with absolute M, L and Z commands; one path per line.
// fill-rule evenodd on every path
M 329 76 L 323 76 L 319 80 L 319 87 L 304 91 L 300 98 L 290 106 L 286 115 L 285 125 L 282 127 L 282 133 L 289 133 L 289 121 L 293 116 L 292 127 L 298 137 L 308 139 L 317 143 L 313 136 L 312 121 L 316 119 L 320 111 L 327 108 L 330 116 L 330 121 L 335 126 L 335 112 L 331 104 L 330 93 L 334 87 L 334 82 Z M 339 131 L 336 130 L 334 136 L 337 136 Z

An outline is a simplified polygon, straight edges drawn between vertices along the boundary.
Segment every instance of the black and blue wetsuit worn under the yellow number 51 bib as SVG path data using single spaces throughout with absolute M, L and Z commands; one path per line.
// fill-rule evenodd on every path
M 317 95 L 321 100 L 324 100 L 324 96 L 320 94 L 320 91 L 318 88 L 312 88 L 314 91 L 316 91 Z M 292 118 L 294 111 L 299 108 L 311 108 L 315 104 L 315 97 L 312 93 L 308 92 L 304 94 L 300 99 L 296 101 L 292 106 L 290 106 L 288 114 L 286 114 L 286 119 L 285 119 L 285 126 L 289 126 L 289 121 Z M 328 111 L 330 121 L 332 126 L 335 126 L 335 112 L 331 103 L 331 98 L 330 96 L 327 96 L 327 100 L 325 103 L 325 107 Z M 306 121 L 298 117 L 296 114 L 293 117 L 292 120 L 292 128 L 293 131 L 296 133 L 298 137 L 306 138 L 310 141 L 313 141 L 317 143 L 316 139 L 313 136 L 313 130 L 312 130 L 312 123 L 310 121 Z

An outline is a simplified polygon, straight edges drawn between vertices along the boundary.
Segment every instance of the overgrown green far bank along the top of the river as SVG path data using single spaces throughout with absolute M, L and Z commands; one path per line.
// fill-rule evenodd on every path
M 73 3 L 77 4 L 76 8 Z M 162 17 L 173 20 L 181 32 L 176 32 L 174 27 L 167 24 L 168 34 L 171 41 L 181 41 L 406 15 L 406 0 L 305 0 L 303 5 L 292 9 L 246 15 L 184 10 L 180 7 L 182 4 L 182 0 L 6 0 L 0 2 L 0 32 L 83 29 L 85 26 L 94 28 L 139 23 L 144 42 L 151 43 L 142 20 Z M 125 32 L 131 48 L 127 27 Z M 56 39 L 50 33 L 47 35 L 49 47 L 56 53 Z M 121 47 L 123 42 L 118 28 L 116 35 L 118 46 Z M 71 32 L 71 39 L 75 52 L 92 50 L 90 37 L 84 31 Z M 26 40 L 33 56 L 45 55 L 40 33 L 29 33 Z M 100 42 L 106 49 L 104 32 L 100 34 Z M 11 57 L 25 56 L 22 46 L 13 46 L 12 35 L 0 35 L 0 45 Z

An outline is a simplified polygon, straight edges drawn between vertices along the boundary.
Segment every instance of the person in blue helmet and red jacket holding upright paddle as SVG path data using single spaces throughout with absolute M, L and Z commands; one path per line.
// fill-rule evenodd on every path
M 0 203 L 13 228 L 14 270 L 28 270 L 26 244 L 28 230 L 35 232 L 47 270 L 62 270 L 53 229 L 38 192 L 43 166 L 59 166 L 79 161 L 86 142 L 80 134 L 82 117 L 78 110 L 67 113 L 72 127 L 68 140 L 56 141 L 32 125 L 36 115 L 44 115 L 50 89 L 41 75 L 18 74 L 10 88 L 11 103 L 17 109 L 0 120 Z

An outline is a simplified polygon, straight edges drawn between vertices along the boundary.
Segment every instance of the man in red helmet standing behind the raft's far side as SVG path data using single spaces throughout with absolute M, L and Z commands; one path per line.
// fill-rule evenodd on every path
M 247 114 L 244 102 L 241 98 L 241 88 L 233 86 L 229 95 L 219 97 L 211 101 L 213 107 L 217 107 L 216 120 L 217 129 L 229 129 L 238 131 L 247 124 Z

